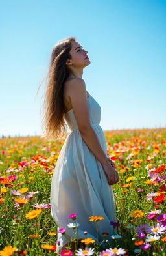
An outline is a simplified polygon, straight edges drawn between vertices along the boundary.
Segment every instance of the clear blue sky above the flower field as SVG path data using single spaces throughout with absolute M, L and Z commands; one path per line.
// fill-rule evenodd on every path
M 160 0 L 1 0 L 0 136 L 42 135 L 36 91 L 68 36 L 88 50 L 82 78 L 103 130 L 165 127 L 165 13 Z

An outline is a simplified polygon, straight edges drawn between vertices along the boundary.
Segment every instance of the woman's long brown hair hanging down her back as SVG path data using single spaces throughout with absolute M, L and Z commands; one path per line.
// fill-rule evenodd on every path
M 44 96 L 44 115 L 42 122 L 45 130 L 43 136 L 45 139 L 60 139 L 66 132 L 66 124 L 64 120 L 64 83 L 69 75 L 66 66 L 67 59 L 71 59 L 69 51 L 72 42 L 77 38 L 71 36 L 60 40 L 55 44 L 49 63 L 49 71 L 47 73 L 47 85 L 45 87 Z

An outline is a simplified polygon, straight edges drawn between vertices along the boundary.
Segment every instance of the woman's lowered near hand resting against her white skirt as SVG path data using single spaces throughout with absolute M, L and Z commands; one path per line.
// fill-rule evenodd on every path
M 103 164 L 102 167 L 104 169 L 104 173 L 106 174 L 106 177 L 108 179 L 108 184 L 113 185 L 119 182 L 119 175 L 117 171 L 115 171 L 115 164 L 113 163 L 110 158 L 108 158 L 108 162 L 106 164 Z

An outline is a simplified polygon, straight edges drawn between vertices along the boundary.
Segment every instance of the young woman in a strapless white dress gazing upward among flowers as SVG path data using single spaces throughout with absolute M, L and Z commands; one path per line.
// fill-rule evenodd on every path
M 67 135 L 58 156 L 51 182 L 51 215 L 65 234 L 57 233 L 60 253 L 74 238 L 74 222 L 68 216 L 77 213 L 78 248 L 80 240 L 103 240 L 117 234 L 110 225 L 116 221 L 115 199 L 112 186 L 119 181 L 115 165 L 108 158 L 106 141 L 101 126 L 101 107 L 86 91 L 82 79 L 83 69 L 90 64 L 88 51 L 75 37 L 59 41 L 53 48 L 45 91 L 45 136 L 59 139 L 64 135 L 65 122 L 71 133 Z M 98 235 L 90 216 L 102 216 L 98 222 Z M 71 244 L 73 249 L 73 244 Z M 78 249 L 77 248 L 77 249 Z

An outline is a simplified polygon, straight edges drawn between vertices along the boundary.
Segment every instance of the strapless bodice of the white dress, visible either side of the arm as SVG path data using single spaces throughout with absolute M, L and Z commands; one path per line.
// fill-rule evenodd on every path
M 88 102 L 88 108 L 89 108 L 90 124 L 99 124 L 101 121 L 101 106 L 90 94 L 89 94 L 89 97 L 87 98 L 87 102 Z M 65 114 L 65 121 L 67 122 L 67 125 L 69 126 L 69 129 L 71 131 L 78 128 L 73 109 L 69 110 Z

